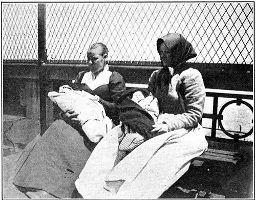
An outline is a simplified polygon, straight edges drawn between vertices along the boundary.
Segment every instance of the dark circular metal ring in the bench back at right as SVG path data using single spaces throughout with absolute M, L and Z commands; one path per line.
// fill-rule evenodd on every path
M 247 107 L 249 107 L 250 110 L 251 110 L 251 112 L 253 113 L 253 108 L 252 108 L 251 104 L 249 104 L 249 103 L 246 102 L 246 101 L 237 99 L 237 100 L 232 100 L 232 101 L 229 101 L 229 102 L 225 103 L 225 104 L 221 107 L 220 112 L 219 112 L 219 115 L 222 116 L 223 110 L 224 110 L 228 105 L 230 105 L 230 104 L 232 104 L 232 103 L 240 103 L 240 104 L 242 103 L 242 104 L 246 105 Z M 247 136 L 251 135 L 252 132 L 253 132 L 253 127 L 252 127 L 252 128 L 249 130 L 249 132 L 247 132 L 247 133 L 244 134 L 243 136 L 232 135 L 232 134 L 230 134 L 230 132 L 228 132 L 228 131 L 224 128 L 224 126 L 222 125 L 221 119 L 218 119 L 218 122 L 219 122 L 220 128 L 221 128 L 221 130 L 224 132 L 224 134 L 226 134 L 227 136 L 229 136 L 229 137 L 231 137 L 231 138 L 233 138 L 233 139 L 246 138 Z

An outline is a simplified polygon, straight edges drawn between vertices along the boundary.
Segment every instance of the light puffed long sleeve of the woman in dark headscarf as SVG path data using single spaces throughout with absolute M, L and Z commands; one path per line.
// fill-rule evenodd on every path
M 195 127 L 202 118 L 205 102 L 205 87 L 201 73 L 189 69 L 181 74 L 179 92 L 183 99 L 185 112 L 177 115 L 166 115 L 165 122 L 169 131 L 180 128 Z

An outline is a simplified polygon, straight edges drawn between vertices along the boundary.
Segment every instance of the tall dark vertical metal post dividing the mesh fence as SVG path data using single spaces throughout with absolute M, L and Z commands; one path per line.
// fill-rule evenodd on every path
M 40 135 L 46 130 L 46 70 L 43 67 L 47 60 L 46 53 L 46 4 L 38 4 L 38 67 L 40 97 Z

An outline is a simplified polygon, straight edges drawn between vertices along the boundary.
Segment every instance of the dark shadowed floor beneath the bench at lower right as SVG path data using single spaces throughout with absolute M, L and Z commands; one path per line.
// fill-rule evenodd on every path
M 240 151 L 236 164 L 208 160 L 189 170 L 160 198 L 253 198 L 253 148 Z

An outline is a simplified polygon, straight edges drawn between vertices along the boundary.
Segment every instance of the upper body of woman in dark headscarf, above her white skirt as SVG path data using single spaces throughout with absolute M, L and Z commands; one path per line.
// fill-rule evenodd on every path
M 184 63 L 197 56 L 191 44 L 180 34 L 170 33 L 157 40 L 163 68 L 153 72 L 148 90 L 158 99 L 162 123 L 152 132 L 166 132 L 198 126 L 205 101 L 200 72 Z M 173 115 L 165 115 L 173 114 Z

